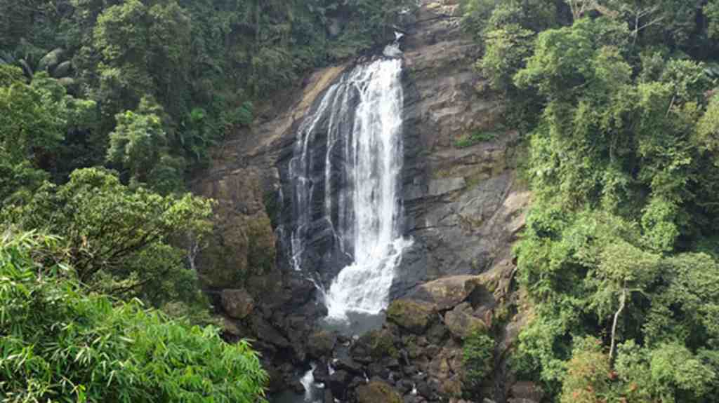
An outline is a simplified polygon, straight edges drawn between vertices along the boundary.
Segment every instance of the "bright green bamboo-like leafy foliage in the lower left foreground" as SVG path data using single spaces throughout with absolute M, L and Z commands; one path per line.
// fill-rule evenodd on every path
M 0 238 L 1 402 L 258 402 L 247 343 L 87 293 L 60 241 Z

